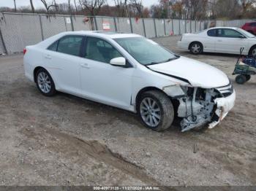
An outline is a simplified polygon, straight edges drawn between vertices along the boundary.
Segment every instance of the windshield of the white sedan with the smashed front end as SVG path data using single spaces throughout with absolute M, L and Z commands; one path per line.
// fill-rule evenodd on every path
M 166 50 L 156 42 L 144 37 L 114 39 L 124 50 L 127 50 L 136 61 L 143 65 L 165 63 L 178 58 L 173 52 Z

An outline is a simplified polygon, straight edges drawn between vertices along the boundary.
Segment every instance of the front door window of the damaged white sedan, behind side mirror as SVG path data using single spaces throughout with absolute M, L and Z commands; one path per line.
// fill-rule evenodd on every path
M 86 39 L 85 58 L 93 61 L 110 63 L 111 59 L 117 57 L 123 57 L 123 55 L 105 40 L 96 37 L 88 37 Z

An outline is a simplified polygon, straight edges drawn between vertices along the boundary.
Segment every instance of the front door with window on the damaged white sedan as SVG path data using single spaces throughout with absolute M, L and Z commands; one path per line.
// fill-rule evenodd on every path
M 86 50 L 80 67 L 82 94 L 104 104 L 129 109 L 134 68 L 113 66 L 110 60 L 123 57 L 109 42 L 86 38 Z

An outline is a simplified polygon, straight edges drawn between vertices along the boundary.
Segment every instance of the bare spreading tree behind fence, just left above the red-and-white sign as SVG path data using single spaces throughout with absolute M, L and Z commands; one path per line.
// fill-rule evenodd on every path
M 99 10 L 101 9 L 102 5 L 106 4 L 106 0 L 83 0 L 81 1 L 82 6 L 85 7 L 90 15 L 95 16 L 98 15 Z

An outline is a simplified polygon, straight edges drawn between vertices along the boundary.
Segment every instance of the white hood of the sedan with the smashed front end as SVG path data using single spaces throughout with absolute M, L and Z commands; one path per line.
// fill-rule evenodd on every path
M 170 77 L 187 79 L 194 87 L 222 87 L 230 82 L 227 75 L 219 69 L 182 56 L 167 63 L 148 66 L 148 68 L 161 74 L 170 75 Z

